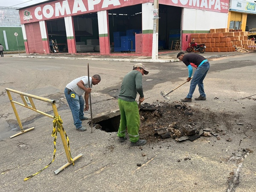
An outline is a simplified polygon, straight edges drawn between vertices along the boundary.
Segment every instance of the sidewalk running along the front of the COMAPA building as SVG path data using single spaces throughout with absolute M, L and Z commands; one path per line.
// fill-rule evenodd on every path
M 154 62 L 154 63 L 169 63 L 179 61 L 176 56 L 177 53 L 180 51 L 159 51 L 158 52 L 158 59 L 152 59 L 151 56 L 137 56 L 133 53 L 127 53 L 127 56 L 120 55 L 120 53 L 113 53 L 112 55 L 99 55 L 96 53 L 81 53 L 71 55 L 68 53 L 53 53 L 47 55 L 39 55 L 39 54 L 26 54 L 26 53 L 10 53 L 6 52 L 5 56 L 12 56 L 12 57 L 20 57 L 20 58 L 62 58 L 62 59 L 79 59 L 79 60 L 95 60 L 95 61 L 124 61 L 124 62 Z M 186 51 L 185 54 L 188 54 Z M 218 57 L 227 57 L 227 56 L 234 56 L 234 55 L 243 55 L 247 53 L 251 53 L 255 51 L 248 51 L 248 52 L 204 52 L 200 54 L 205 58 L 218 58 Z

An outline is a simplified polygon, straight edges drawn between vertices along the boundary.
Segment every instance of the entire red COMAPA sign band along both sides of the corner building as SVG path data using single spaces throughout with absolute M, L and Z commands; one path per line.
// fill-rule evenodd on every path
M 118 9 L 148 2 L 154 3 L 154 0 L 56 0 L 28 7 L 27 9 L 20 9 L 19 14 L 21 24 L 26 24 L 41 20 Z M 159 0 L 159 3 L 169 6 L 227 13 L 229 0 Z

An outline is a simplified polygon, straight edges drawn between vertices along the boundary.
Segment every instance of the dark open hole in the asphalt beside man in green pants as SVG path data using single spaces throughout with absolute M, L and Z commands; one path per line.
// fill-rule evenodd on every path
M 93 127 L 106 132 L 117 132 L 120 118 L 119 110 L 100 113 L 93 118 Z

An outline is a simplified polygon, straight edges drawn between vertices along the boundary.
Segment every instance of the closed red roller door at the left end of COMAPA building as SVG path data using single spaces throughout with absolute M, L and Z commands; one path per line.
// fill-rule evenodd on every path
M 25 24 L 29 53 L 44 53 L 39 22 Z

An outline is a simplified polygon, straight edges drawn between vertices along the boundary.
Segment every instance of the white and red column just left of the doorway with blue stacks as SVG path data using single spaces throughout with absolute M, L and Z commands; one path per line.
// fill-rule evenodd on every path
M 110 44 L 108 36 L 108 11 L 99 11 L 98 25 L 99 25 L 99 50 L 100 54 L 110 54 Z

